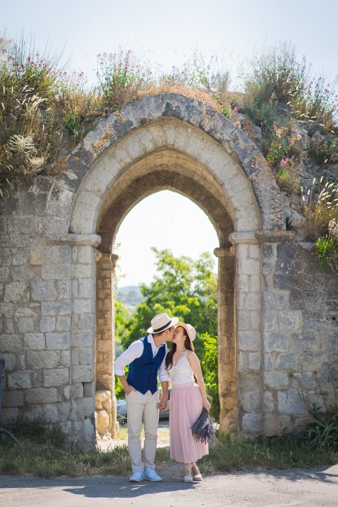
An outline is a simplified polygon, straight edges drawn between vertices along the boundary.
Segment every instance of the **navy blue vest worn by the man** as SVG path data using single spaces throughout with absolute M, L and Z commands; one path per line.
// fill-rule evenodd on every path
M 152 344 L 148 343 L 148 337 L 144 336 L 140 341 L 143 343 L 143 353 L 129 364 L 127 382 L 142 394 L 148 390 L 154 394 L 158 389 L 157 371 L 165 356 L 165 344 L 161 345 L 153 357 Z

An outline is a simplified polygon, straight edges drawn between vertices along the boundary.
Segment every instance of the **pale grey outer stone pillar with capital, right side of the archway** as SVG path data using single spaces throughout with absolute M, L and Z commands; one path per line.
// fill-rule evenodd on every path
M 265 254 L 263 262 L 262 251 L 268 251 L 267 244 L 289 242 L 293 238 L 294 233 L 280 230 L 236 232 L 229 236 L 236 245 L 238 429 L 242 436 L 267 434 L 268 426 L 269 431 L 272 426 L 269 420 L 272 402 L 268 395 L 274 394 L 266 392 L 265 346 L 270 330 L 277 336 L 277 322 L 282 321 L 285 313 L 278 305 L 274 314 L 267 307 L 267 302 L 277 301 L 278 296 L 281 301 L 281 297 L 273 284 L 276 258 L 272 255 L 266 258 Z M 274 374 L 276 384 L 275 377 Z

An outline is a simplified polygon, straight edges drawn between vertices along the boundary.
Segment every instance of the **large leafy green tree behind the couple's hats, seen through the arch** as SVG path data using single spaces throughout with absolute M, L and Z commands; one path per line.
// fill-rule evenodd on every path
M 217 335 L 217 279 L 213 273 L 214 261 L 210 253 L 202 253 L 197 261 L 189 257 L 175 258 L 168 249 L 152 250 L 157 256 L 157 271 L 154 281 L 141 284 L 144 301 L 127 322 L 128 337 L 122 344 L 126 348 L 133 340 L 146 334 L 154 315 L 167 312 L 196 329 L 194 342 L 200 359 L 204 357 L 201 336 L 205 333 Z

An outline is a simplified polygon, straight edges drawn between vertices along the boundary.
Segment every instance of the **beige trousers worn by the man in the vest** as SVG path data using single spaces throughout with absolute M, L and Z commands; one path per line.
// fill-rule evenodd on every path
M 133 473 L 137 470 L 143 472 L 146 466 L 155 468 L 159 426 L 158 403 L 159 391 L 154 394 L 151 391 L 147 391 L 145 394 L 132 391 L 126 396 L 128 450 Z M 144 424 L 143 456 L 141 449 L 142 420 Z

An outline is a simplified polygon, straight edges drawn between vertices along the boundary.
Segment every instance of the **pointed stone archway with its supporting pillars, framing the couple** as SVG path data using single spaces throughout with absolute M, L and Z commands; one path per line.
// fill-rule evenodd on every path
M 142 99 L 111 115 L 86 136 L 69 157 L 68 167 L 54 193 L 58 202 L 69 203 L 67 238 L 69 242 L 76 238 L 71 268 L 73 348 L 80 346 L 77 322 L 84 300 L 95 317 L 86 342 L 92 349 L 95 343 L 88 391 L 91 385 L 93 395 L 95 377 L 97 388 L 114 393 L 111 255 L 117 230 L 141 199 L 159 190 L 173 190 L 206 212 L 219 238 L 221 431 L 238 422 L 246 434 L 259 432 L 263 397 L 257 367 L 262 353 L 259 238 L 273 241 L 276 235 L 282 237 L 285 223 L 281 195 L 255 145 L 204 104 L 166 94 Z M 89 284 L 82 283 L 84 263 L 92 273 Z M 244 305 L 244 299 L 250 304 Z M 250 386 L 247 377 L 242 378 L 238 361 L 256 365 Z M 81 378 L 80 368 L 73 367 L 77 379 Z M 256 404 L 247 409 L 245 398 L 252 393 Z M 77 411 L 74 400 L 74 420 Z M 109 424 L 114 418 L 113 406 Z M 109 429 L 114 434 L 114 427 Z

